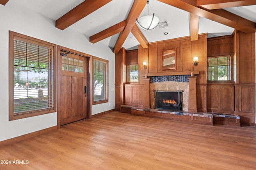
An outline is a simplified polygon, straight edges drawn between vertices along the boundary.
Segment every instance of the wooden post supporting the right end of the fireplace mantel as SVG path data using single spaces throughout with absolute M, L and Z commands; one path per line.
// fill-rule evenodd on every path
M 188 77 L 188 111 L 197 112 L 196 76 Z

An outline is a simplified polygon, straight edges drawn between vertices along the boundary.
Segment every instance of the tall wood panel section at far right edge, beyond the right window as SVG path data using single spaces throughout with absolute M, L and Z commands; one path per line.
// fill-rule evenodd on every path
M 242 125 L 255 123 L 255 34 L 236 32 L 236 114 Z

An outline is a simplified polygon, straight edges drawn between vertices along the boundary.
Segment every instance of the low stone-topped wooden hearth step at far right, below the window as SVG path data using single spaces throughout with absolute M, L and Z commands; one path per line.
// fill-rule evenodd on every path
M 240 116 L 228 113 L 212 113 L 215 125 L 240 126 Z

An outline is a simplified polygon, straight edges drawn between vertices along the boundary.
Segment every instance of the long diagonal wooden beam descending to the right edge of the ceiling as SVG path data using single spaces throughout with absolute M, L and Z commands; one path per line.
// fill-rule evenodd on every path
M 218 23 L 222 23 L 244 33 L 255 33 L 256 23 L 246 20 L 240 16 L 232 14 L 226 10 L 204 10 L 196 6 L 196 0 L 158 0 L 165 4 L 185 10 L 197 16 L 207 18 Z

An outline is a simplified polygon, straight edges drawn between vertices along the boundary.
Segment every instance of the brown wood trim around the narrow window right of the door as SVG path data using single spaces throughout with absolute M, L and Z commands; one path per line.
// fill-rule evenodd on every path
M 109 70 L 108 70 L 108 60 L 105 60 L 105 59 L 101 59 L 99 57 L 95 57 L 95 56 L 92 56 L 92 105 L 95 105 L 95 104 L 102 104 L 102 103 L 107 103 L 108 102 L 108 88 L 107 88 L 107 95 L 106 95 L 106 100 L 100 100 L 100 101 L 96 101 L 94 102 L 94 60 L 96 61 L 100 61 L 100 62 L 103 62 L 103 63 L 106 63 L 107 64 L 107 68 L 106 70 L 108 71 L 108 77 L 107 77 L 107 86 L 109 88 L 109 85 L 108 85 L 108 79 L 109 79 Z

